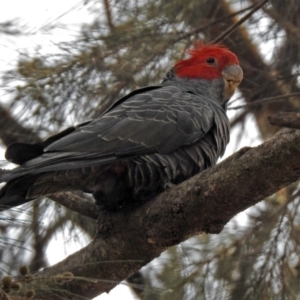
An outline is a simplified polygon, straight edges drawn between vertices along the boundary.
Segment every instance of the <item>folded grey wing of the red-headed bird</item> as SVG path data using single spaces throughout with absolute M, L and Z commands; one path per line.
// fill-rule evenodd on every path
M 100 118 L 53 139 L 44 154 L 15 170 L 19 175 L 22 170 L 40 173 L 170 153 L 199 140 L 214 122 L 213 109 L 204 96 L 172 86 L 141 90 Z

